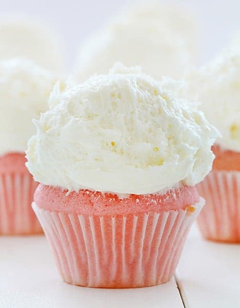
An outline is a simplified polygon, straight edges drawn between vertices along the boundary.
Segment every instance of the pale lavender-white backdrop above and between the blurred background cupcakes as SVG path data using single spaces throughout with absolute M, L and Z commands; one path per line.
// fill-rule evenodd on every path
M 136 2 L 136 1 L 135 1 Z M 170 1 L 168 1 L 170 2 Z M 205 62 L 240 30 L 240 0 L 173 0 L 191 8 L 201 24 Z M 77 47 L 130 0 L 0 0 L 1 13 L 22 13 L 51 24 L 66 46 L 67 66 L 74 63 Z

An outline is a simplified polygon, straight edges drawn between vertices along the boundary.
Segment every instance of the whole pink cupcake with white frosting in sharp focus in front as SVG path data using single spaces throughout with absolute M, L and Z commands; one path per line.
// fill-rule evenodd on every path
M 217 136 L 174 86 L 118 64 L 64 93 L 56 87 L 35 121 L 32 206 L 64 281 L 125 288 L 172 277 Z

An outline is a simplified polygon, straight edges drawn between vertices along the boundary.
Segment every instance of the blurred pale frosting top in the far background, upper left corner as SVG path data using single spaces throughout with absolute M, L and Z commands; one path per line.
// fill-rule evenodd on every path
M 23 58 L 49 70 L 64 70 L 58 34 L 43 22 L 19 15 L 0 15 L 0 60 Z

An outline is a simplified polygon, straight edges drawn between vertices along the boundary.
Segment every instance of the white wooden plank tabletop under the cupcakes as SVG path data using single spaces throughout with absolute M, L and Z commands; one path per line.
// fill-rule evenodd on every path
M 155 287 L 107 290 L 62 282 L 44 236 L 0 237 L 0 307 L 237 308 L 240 245 L 207 242 L 194 226 L 175 279 Z

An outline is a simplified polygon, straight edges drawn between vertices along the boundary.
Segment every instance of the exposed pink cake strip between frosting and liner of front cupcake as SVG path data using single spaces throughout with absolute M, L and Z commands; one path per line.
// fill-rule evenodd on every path
M 186 185 L 169 190 L 164 195 L 128 195 L 119 199 L 116 194 L 88 189 L 67 195 L 67 190 L 39 184 L 34 201 L 38 207 L 51 211 L 102 216 L 185 209 L 198 202 L 199 196 L 195 187 Z

